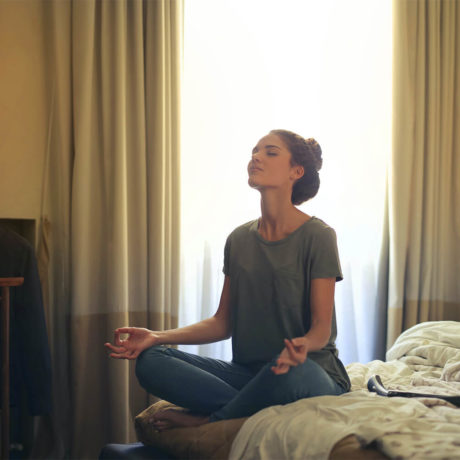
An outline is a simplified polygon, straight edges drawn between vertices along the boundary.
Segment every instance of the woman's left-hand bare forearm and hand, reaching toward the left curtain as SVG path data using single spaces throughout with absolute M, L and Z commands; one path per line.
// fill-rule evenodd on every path
M 128 334 L 128 337 L 122 340 L 122 334 Z M 226 276 L 219 308 L 211 318 L 166 331 L 121 327 L 115 330 L 114 344 L 106 343 L 105 346 L 112 352 L 112 358 L 136 359 L 143 350 L 153 345 L 203 344 L 218 342 L 230 336 L 230 278 Z

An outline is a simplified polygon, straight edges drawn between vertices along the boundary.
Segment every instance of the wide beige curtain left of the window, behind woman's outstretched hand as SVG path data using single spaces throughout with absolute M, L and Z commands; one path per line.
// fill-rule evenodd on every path
M 49 259 L 56 408 L 40 430 L 54 439 L 46 455 L 96 458 L 107 442 L 135 441 L 133 417 L 148 404 L 134 363 L 108 358 L 104 342 L 123 325 L 177 324 L 183 8 L 43 5 L 49 225 L 40 254 Z

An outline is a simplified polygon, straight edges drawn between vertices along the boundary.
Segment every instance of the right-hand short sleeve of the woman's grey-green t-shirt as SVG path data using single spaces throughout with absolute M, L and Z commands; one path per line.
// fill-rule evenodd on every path
M 340 266 L 337 237 L 331 227 L 323 228 L 315 237 L 315 244 L 311 255 L 310 278 L 343 279 Z

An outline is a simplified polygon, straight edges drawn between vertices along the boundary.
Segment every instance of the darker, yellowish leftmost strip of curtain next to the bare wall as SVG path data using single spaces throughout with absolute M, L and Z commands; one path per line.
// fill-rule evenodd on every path
M 70 196 L 73 168 L 70 2 L 42 1 L 48 101 L 37 260 L 53 371 L 53 413 L 36 419 L 31 458 L 64 458 L 71 440 Z

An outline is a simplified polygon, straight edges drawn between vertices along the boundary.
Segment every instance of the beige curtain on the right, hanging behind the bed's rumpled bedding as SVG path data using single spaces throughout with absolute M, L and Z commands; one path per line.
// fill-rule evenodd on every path
M 387 346 L 460 321 L 460 2 L 394 1 Z

